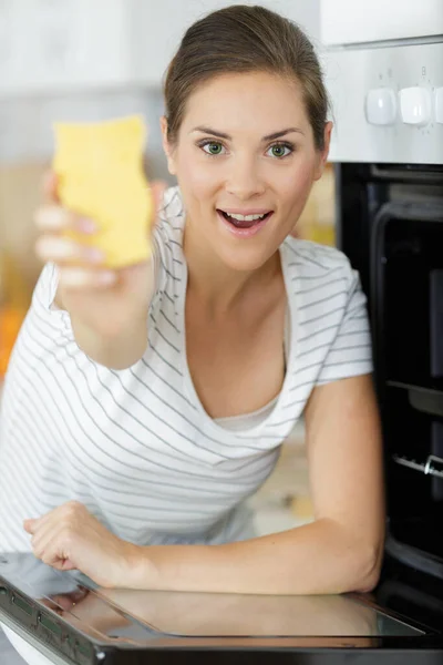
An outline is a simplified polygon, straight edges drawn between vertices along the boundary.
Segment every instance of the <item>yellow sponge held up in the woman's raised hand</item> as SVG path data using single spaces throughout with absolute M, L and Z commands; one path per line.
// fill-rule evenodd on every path
M 69 232 L 70 237 L 101 249 L 110 268 L 148 258 L 154 206 L 143 173 L 142 117 L 56 123 L 54 129 L 60 201 L 97 225 L 92 236 Z

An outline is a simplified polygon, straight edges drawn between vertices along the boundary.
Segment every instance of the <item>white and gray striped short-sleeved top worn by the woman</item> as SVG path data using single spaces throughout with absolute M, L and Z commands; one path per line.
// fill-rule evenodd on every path
M 288 237 L 280 247 L 290 319 L 287 372 L 265 418 L 229 429 L 205 412 L 186 362 L 187 268 L 178 187 L 155 232 L 148 347 L 115 371 L 78 347 L 53 307 L 47 265 L 17 341 L 0 417 L 0 551 L 27 551 L 22 520 L 71 499 L 138 544 L 248 535 L 244 501 L 319 383 L 372 370 L 365 298 L 339 250 Z

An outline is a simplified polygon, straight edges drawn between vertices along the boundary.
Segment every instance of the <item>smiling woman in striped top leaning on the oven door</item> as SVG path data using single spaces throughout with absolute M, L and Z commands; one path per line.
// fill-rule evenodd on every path
M 38 211 L 47 266 L 7 379 L 0 550 L 102 586 L 369 591 L 383 491 L 365 299 L 343 254 L 290 236 L 331 133 L 312 45 L 228 7 L 189 28 L 164 92 L 178 187 L 153 263 L 110 273 L 63 239 L 93 222 L 53 184 Z M 255 538 L 245 500 L 301 416 L 315 521 Z

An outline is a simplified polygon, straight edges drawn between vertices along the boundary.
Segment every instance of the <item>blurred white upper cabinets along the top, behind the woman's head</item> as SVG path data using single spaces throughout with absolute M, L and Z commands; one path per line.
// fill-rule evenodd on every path
M 255 0 L 244 0 L 255 4 Z M 158 86 L 186 28 L 227 0 L 1 0 L 0 96 Z M 317 40 L 319 0 L 262 0 Z

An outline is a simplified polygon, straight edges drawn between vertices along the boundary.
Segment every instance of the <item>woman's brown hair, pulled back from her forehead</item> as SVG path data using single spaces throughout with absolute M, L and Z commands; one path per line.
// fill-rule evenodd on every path
M 186 101 L 198 86 L 216 75 L 257 71 L 301 84 L 315 144 L 322 150 L 328 94 L 311 42 L 289 19 L 246 4 L 209 13 L 183 37 L 164 83 L 168 141 L 176 143 Z

